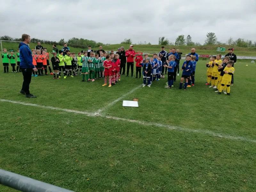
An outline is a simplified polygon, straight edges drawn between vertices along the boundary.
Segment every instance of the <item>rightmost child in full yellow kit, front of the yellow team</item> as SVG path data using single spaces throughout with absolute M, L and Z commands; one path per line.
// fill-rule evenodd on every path
M 221 94 L 221 91 L 223 90 L 224 86 L 226 85 L 227 86 L 227 95 L 231 96 L 230 95 L 230 83 L 231 83 L 232 76 L 235 72 L 235 68 L 233 68 L 232 65 L 233 65 L 233 61 L 228 61 L 227 66 L 223 70 L 224 75 L 221 80 L 221 86 L 220 86 L 220 89 L 218 92 L 219 95 Z

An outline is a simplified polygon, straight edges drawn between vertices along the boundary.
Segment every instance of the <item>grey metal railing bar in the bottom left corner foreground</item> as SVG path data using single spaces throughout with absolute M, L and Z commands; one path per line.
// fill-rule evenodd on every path
M 23 192 L 74 192 L 0 169 L 0 184 Z

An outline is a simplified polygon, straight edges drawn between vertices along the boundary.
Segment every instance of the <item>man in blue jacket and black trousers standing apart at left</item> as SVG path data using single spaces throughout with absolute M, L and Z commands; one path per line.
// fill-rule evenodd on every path
M 21 36 L 22 41 L 19 45 L 20 48 L 20 69 L 23 75 L 23 84 L 20 93 L 24 94 L 27 98 L 35 98 L 29 92 L 29 84 L 31 82 L 32 70 L 37 71 L 35 65 L 33 65 L 32 52 L 30 51 L 28 44 L 30 43 L 30 36 L 23 34 Z

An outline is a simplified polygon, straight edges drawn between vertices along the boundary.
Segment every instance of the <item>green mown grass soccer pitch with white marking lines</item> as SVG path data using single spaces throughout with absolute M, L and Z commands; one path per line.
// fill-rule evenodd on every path
M 235 69 L 231 97 L 204 85 L 202 60 L 187 91 L 38 76 L 28 99 L 21 73 L 1 73 L 0 168 L 77 192 L 256 191 L 256 67 Z

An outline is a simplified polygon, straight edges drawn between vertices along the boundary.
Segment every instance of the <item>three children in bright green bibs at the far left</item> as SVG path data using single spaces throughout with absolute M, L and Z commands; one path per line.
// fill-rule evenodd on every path
M 10 60 L 10 64 L 12 66 L 12 73 L 17 73 L 17 72 L 21 72 L 21 70 L 19 69 L 20 67 L 20 49 L 17 49 L 17 68 L 15 69 L 16 66 L 16 61 L 15 61 L 15 54 L 14 54 L 14 50 L 11 49 L 10 50 L 10 54 L 7 53 L 7 49 L 3 49 L 3 53 L 1 54 L 1 57 L 3 59 L 3 66 L 4 66 L 4 73 L 9 73 L 9 60 Z

